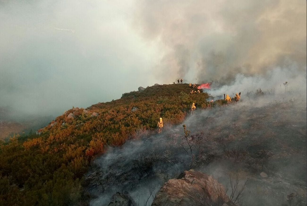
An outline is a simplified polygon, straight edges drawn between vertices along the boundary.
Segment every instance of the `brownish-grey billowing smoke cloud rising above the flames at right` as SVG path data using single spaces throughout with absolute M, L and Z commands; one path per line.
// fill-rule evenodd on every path
M 160 45 L 159 75 L 218 81 L 306 67 L 306 1 L 141 1 L 135 27 Z

